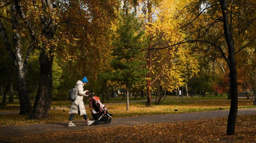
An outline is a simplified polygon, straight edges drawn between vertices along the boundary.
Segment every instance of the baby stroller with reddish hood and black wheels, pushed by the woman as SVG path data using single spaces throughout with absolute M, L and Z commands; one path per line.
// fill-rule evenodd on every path
M 94 124 L 99 125 L 100 122 L 111 123 L 112 117 L 104 110 L 100 104 L 95 100 L 95 98 L 89 98 L 89 107 L 93 107 L 94 110 L 90 110 L 93 118 L 90 120 L 95 120 Z

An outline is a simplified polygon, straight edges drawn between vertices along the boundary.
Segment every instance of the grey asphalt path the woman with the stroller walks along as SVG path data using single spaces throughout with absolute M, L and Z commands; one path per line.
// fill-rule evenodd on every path
M 228 117 L 229 110 L 217 110 L 206 112 L 193 112 L 193 113 L 176 113 L 154 116 L 139 116 L 128 118 L 113 118 L 110 124 L 100 122 L 100 125 L 87 126 L 85 121 L 73 121 L 75 127 L 67 127 L 67 122 L 62 123 L 43 123 L 32 125 L 11 125 L 0 126 L 0 138 L 7 136 L 22 136 L 33 134 L 46 134 L 50 132 L 65 132 L 72 130 L 92 130 L 104 127 L 115 127 L 119 125 L 143 125 L 152 123 L 176 122 L 176 121 L 189 121 L 200 119 L 213 119 Z M 237 115 L 251 115 L 256 114 L 256 108 L 252 109 L 238 109 Z

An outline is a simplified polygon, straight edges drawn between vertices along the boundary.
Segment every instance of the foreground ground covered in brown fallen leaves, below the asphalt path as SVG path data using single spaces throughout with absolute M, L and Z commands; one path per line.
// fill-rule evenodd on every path
M 256 142 L 256 115 L 238 116 L 236 135 L 226 136 L 227 118 L 179 121 L 134 126 L 117 126 L 96 130 L 55 132 L 43 135 L 27 135 L 2 138 L 2 141 L 27 142 Z

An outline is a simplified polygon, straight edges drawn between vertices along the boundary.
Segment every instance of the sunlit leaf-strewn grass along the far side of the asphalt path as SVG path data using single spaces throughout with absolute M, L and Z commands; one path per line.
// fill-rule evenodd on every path
M 171 102 L 163 103 L 162 105 L 152 105 L 152 107 L 145 107 L 145 103 L 131 103 L 130 110 L 126 111 L 126 104 L 110 104 L 106 107 L 111 113 L 114 114 L 113 118 L 118 117 L 132 117 L 132 116 L 145 116 L 145 115 L 159 115 L 171 113 L 184 113 L 184 112 L 200 112 L 219 110 L 219 108 L 228 109 L 229 102 Z M 85 105 L 87 116 L 91 118 L 91 112 L 88 105 Z M 239 102 L 239 108 L 253 108 L 252 102 Z M 178 109 L 178 111 L 175 111 Z M 37 123 L 52 123 L 52 122 L 67 122 L 69 119 L 69 109 L 63 110 L 50 110 L 49 119 L 32 119 L 28 120 L 28 115 L 16 114 L 2 114 L 0 115 L 0 125 L 25 125 Z M 74 120 L 83 120 L 82 116 L 75 116 Z

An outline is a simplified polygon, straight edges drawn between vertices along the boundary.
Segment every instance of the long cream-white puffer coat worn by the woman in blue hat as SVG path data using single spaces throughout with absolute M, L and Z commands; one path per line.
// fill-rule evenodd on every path
M 83 82 L 78 80 L 76 82 L 76 90 L 78 91 L 78 95 L 76 96 L 76 100 L 72 102 L 72 105 L 69 108 L 69 114 L 78 114 L 78 107 L 80 110 L 80 115 L 85 115 L 85 107 L 83 104 L 83 96 L 85 96 L 85 92 L 83 91 Z

